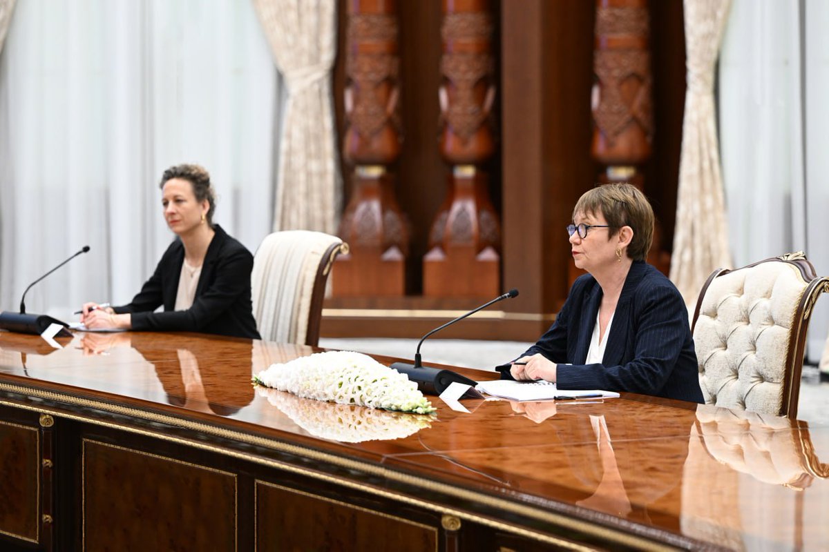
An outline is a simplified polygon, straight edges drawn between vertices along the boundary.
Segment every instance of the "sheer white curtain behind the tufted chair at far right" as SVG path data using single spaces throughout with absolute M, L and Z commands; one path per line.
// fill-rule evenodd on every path
M 720 137 L 734 264 L 805 251 L 829 274 L 829 4 L 734 0 L 720 60 Z M 807 358 L 829 329 L 812 314 Z

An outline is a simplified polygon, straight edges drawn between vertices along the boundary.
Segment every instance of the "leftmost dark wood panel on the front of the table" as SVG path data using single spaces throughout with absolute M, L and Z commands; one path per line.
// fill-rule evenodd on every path
M 0 420 L 0 534 L 37 542 L 39 430 Z

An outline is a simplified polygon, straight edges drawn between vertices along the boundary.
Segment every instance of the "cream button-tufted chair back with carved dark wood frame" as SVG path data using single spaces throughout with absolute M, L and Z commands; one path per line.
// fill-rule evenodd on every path
M 711 273 L 691 325 L 705 402 L 797 416 L 806 330 L 822 291 L 829 280 L 802 252 Z

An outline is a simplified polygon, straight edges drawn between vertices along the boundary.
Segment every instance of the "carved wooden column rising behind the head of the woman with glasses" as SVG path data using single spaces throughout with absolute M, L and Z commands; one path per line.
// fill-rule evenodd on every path
M 651 156 L 653 103 L 647 0 L 596 0 L 592 154 L 599 181 L 629 182 L 644 191 L 642 166 Z M 671 257 L 654 228 L 648 262 L 667 274 Z M 578 276 L 571 270 L 571 281 Z

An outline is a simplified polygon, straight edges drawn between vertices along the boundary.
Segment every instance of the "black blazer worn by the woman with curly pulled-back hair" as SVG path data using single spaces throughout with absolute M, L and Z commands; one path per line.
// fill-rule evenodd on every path
M 189 309 L 174 310 L 184 262 L 184 245 L 176 238 L 133 302 L 115 307 L 115 312 L 132 314 L 135 330 L 203 332 L 259 339 L 250 302 L 254 257 L 221 226 L 216 225 L 214 229 L 216 235 L 207 247 L 196 296 Z M 153 312 L 159 305 L 164 305 L 164 311 Z

